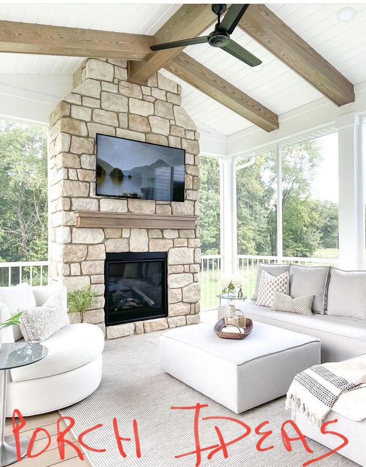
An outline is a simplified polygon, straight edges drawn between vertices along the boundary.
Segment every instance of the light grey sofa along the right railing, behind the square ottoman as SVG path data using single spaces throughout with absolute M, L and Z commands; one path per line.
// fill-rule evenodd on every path
M 291 273 L 291 269 L 295 272 Z M 260 323 L 270 324 L 278 328 L 287 329 L 301 334 L 314 336 L 321 341 L 321 361 L 341 361 L 347 358 L 366 353 L 366 319 L 352 319 L 344 316 L 330 315 L 328 311 L 319 313 L 314 311 L 313 316 L 301 315 L 297 313 L 289 313 L 285 311 L 272 311 L 271 308 L 257 305 L 256 294 L 258 291 L 259 277 L 262 270 L 268 271 L 270 274 L 278 275 L 285 270 L 290 271 L 289 294 L 292 297 L 299 295 L 311 294 L 317 298 L 319 306 L 323 305 L 324 296 L 328 302 L 338 300 L 333 298 L 334 288 L 331 289 L 330 284 L 333 280 L 333 271 L 339 271 L 337 268 L 330 268 L 328 274 L 325 274 L 326 279 L 317 281 L 311 278 L 311 273 L 324 267 L 305 267 L 289 264 L 259 264 L 257 274 L 256 291 L 252 300 L 245 302 L 237 301 L 235 306 L 242 310 L 247 318 Z M 341 271 L 346 277 L 349 275 L 347 285 L 344 287 L 344 301 L 350 301 L 351 298 L 360 294 L 360 290 L 364 290 L 363 285 L 359 285 L 357 278 L 354 277 L 356 271 Z M 362 272 L 362 271 L 361 271 Z M 295 277 L 295 274 L 300 277 Z M 292 282 L 297 281 L 298 287 L 296 291 L 292 290 Z M 293 293 L 297 292 L 297 293 Z M 339 307 L 342 309 L 342 303 Z M 224 317 L 225 306 L 222 305 L 218 309 L 218 319 Z M 366 316 L 366 314 L 365 314 Z

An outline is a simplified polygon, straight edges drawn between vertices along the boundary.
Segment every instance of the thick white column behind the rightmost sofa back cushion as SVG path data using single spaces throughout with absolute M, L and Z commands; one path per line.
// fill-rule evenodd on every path
M 340 267 L 364 268 L 363 157 L 360 117 L 338 117 Z

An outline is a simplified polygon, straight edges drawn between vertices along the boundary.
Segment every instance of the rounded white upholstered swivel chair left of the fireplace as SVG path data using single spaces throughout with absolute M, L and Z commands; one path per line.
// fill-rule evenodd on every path
M 43 305 L 51 295 L 56 296 L 65 308 L 67 306 L 67 290 L 63 285 L 32 287 L 31 291 L 37 306 Z M 0 287 L 0 297 L 1 293 L 2 296 L 6 295 L 10 314 L 13 315 L 16 309 L 11 309 L 11 297 L 14 294 L 14 302 L 18 302 L 15 296 L 19 294 L 19 288 Z M 18 326 L 7 329 L 12 331 L 10 337 L 6 333 L 7 342 L 23 340 Z M 2 339 L 5 342 L 3 335 Z M 100 328 L 86 323 L 72 324 L 42 344 L 48 349 L 48 355 L 43 360 L 10 370 L 7 417 L 11 416 L 14 408 L 20 410 L 23 416 L 29 416 L 67 407 L 84 399 L 99 386 L 104 348 Z

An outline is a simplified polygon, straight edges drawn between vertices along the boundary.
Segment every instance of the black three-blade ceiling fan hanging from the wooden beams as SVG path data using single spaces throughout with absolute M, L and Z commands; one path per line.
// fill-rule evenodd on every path
M 248 6 L 249 4 L 232 4 L 227 10 L 224 19 L 221 21 L 221 15 L 226 10 L 226 4 L 215 3 L 212 5 L 212 11 L 217 15 L 217 23 L 215 25 L 215 29 L 210 32 L 208 36 L 193 37 L 192 39 L 177 40 L 174 42 L 167 42 L 165 44 L 156 44 L 152 45 L 150 49 L 156 51 L 171 49 L 174 47 L 204 44 L 207 42 L 212 47 L 220 47 L 220 49 L 225 50 L 225 52 L 228 52 L 251 67 L 260 65 L 262 60 L 255 57 L 244 47 L 230 39 L 230 34 L 234 31 Z

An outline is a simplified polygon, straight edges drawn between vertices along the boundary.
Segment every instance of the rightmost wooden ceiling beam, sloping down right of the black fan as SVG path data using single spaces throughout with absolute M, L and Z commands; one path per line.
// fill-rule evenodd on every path
M 355 102 L 353 84 L 266 5 L 251 3 L 239 27 L 337 106 Z

